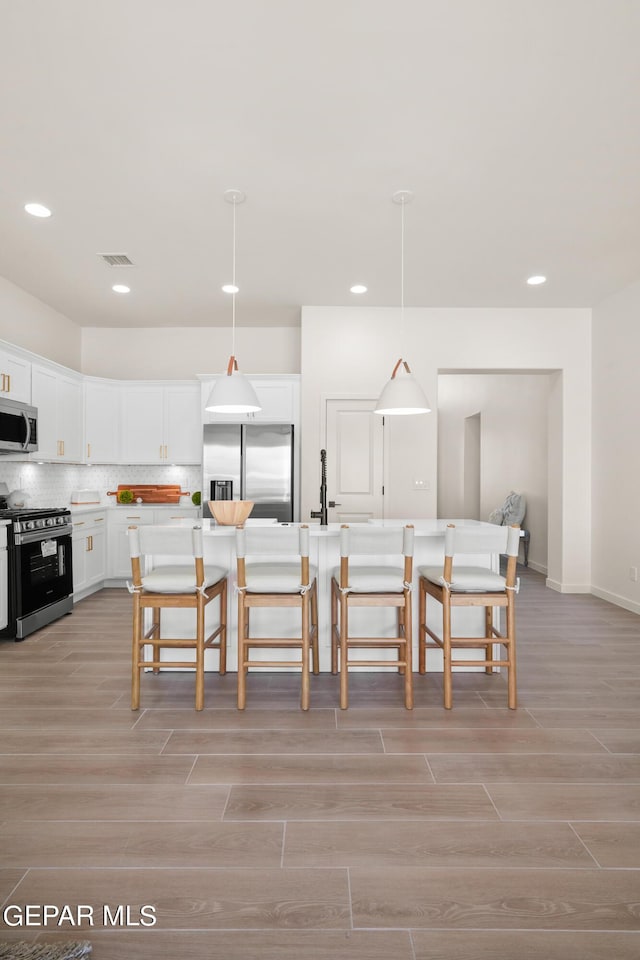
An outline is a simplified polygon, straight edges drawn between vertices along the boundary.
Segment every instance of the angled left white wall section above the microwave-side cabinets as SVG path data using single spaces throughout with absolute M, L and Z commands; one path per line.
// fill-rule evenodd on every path
M 81 338 L 75 323 L 0 277 L 0 340 L 79 370 Z

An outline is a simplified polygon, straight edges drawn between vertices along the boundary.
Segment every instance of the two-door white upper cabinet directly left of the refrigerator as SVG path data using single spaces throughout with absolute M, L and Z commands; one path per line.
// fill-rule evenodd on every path
M 125 463 L 200 463 L 202 421 L 197 383 L 122 386 Z

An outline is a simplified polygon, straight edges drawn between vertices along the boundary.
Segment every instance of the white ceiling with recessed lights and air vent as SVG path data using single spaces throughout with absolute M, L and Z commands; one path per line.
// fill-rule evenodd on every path
M 0 0 L 0 17 L 0 275 L 81 326 L 228 324 L 228 188 L 247 194 L 239 324 L 397 304 L 399 189 L 407 306 L 590 306 L 640 278 L 640 0 Z

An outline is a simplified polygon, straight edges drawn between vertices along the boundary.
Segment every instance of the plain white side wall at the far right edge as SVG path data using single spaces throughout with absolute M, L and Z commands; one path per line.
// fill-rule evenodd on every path
M 593 311 L 593 592 L 640 613 L 640 283 Z

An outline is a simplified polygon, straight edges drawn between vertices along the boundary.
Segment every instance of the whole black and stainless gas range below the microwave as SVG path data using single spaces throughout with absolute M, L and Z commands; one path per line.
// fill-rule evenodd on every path
M 73 609 L 69 510 L 2 510 L 7 531 L 9 624 L 2 636 L 23 640 Z

